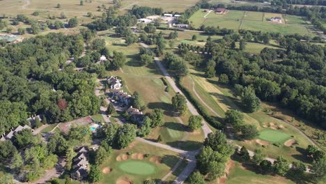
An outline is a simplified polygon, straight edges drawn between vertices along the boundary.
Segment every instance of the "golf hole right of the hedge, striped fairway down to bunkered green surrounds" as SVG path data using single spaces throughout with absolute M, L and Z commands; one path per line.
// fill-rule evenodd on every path
M 229 89 L 228 86 L 218 84 L 217 77 L 205 79 L 205 77 L 203 77 L 203 72 L 196 70 L 190 70 L 190 73 L 191 75 L 187 77 L 189 79 L 184 79 L 183 84 L 189 91 L 192 91 L 192 80 L 194 81 L 194 89 L 211 109 L 205 105 L 203 105 L 203 107 L 205 107 L 212 116 L 219 115 L 223 118 L 224 113 L 230 108 L 238 109 L 242 112 L 241 104 L 238 99 L 233 96 L 231 89 Z M 212 110 L 214 112 L 212 112 Z M 248 114 L 244 113 L 244 121 L 256 125 L 261 132 L 275 131 L 280 135 L 287 135 L 287 137 L 284 136 L 279 141 L 272 140 L 271 138 L 266 141 L 261 139 L 261 137 L 257 137 L 251 141 L 235 141 L 236 144 L 246 146 L 249 150 L 262 148 L 262 146 L 265 145 L 263 152 L 271 158 L 276 158 L 277 155 L 284 155 L 284 157 L 290 161 L 304 161 L 304 157 L 297 157 L 297 155 L 301 155 L 300 151 L 311 143 L 290 125 L 277 118 L 273 118 L 263 111 Z M 267 135 L 269 134 L 267 133 Z M 263 138 L 266 138 L 266 135 L 264 137 L 263 134 Z M 279 142 L 279 146 L 274 146 L 274 142 Z

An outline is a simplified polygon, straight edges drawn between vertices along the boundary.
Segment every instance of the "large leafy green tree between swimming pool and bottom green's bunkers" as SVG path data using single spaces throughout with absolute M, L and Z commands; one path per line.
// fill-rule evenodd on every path
M 119 128 L 116 146 L 118 148 L 127 148 L 127 146 L 134 141 L 136 130 L 136 125 L 132 124 L 125 124 L 122 128 Z

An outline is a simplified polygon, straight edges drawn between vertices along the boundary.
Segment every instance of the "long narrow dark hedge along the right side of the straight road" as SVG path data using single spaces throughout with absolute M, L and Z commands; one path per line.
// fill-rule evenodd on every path
M 183 93 L 185 94 L 185 96 L 187 97 L 187 99 L 189 99 L 189 101 L 192 103 L 192 105 L 194 105 L 194 107 L 196 107 L 197 111 L 199 112 L 199 114 L 201 114 L 201 116 L 203 116 L 203 118 L 205 119 L 205 121 L 207 121 L 208 123 L 210 123 L 210 125 L 212 125 L 214 128 L 217 129 L 222 129 L 223 128 L 223 124 L 219 121 L 217 121 L 217 119 L 214 116 L 210 116 L 206 109 L 203 108 L 203 106 L 201 106 L 201 102 L 199 102 L 198 100 L 196 100 L 196 98 L 194 97 L 194 95 L 192 95 L 192 93 L 185 88 L 182 84 L 181 84 L 181 80 L 179 77 L 176 79 L 176 84 L 178 85 L 178 88 L 183 91 Z

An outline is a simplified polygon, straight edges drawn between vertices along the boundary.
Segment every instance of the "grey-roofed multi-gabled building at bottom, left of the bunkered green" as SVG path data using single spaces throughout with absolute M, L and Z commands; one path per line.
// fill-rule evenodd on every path
M 72 171 L 70 171 L 70 177 L 74 180 L 82 181 L 87 178 L 89 171 L 88 162 L 88 148 L 82 146 L 76 151 L 77 156 L 72 158 Z

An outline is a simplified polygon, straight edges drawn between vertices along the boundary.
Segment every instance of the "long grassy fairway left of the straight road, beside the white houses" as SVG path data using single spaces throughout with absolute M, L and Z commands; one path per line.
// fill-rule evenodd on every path
M 134 93 L 138 91 L 141 94 L 147 107 L 144 113 L 151 112 L 155 108 L 163 109 L 164 125 L 160 128 L 155 128 L 148 135 L 148 139 L 157 139 L 162 136 L 162 144 L 170 146 L 186 148 L 187 150 L 196 150 L 201 147 L 203 141 L 203 132 L 196 134 L 187 132 L 187 123 L 189 113 L 185 116 L 175 117 L 171 112 L 171 98 L 175 95 L 173 90 L 166 92 L 166 86 L 162 82 L 160 69 L 156 63 L 150 63 L 148 66 L 139 66 L 140 46 L 133 44 L 127 47 L 124 40 L 114 38 L 113 36 L 105 36 L 107 47 L 110 51 L 123 52 L 127 56 L 127 62 L 122 70 L 109 72 L 108 75 L 117 75 L 122 77 L 125 82 L 126 91 Z

